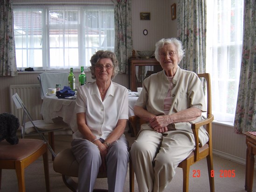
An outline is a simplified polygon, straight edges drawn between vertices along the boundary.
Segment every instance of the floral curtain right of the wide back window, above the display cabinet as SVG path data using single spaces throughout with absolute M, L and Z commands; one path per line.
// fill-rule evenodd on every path
M 128 59 L 132 55 L 131 0 L 112 0 L 115 18 L 115 53 L 119 73 L 128 74 Z

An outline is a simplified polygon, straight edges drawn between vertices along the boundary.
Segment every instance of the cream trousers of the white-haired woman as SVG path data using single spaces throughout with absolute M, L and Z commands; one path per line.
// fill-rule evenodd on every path
M 164 134 L 142 130 L 131 145 L 130 156 L 139 192 L 162 192 L 179 163 L 194 150 L 194 136 L 172 130 Z

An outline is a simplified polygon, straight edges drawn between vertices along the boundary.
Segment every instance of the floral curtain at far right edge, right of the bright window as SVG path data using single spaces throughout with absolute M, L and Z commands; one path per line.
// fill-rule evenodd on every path
M 256 0 L 244 0 L 243 48 L 234 128 L 256 131 Z

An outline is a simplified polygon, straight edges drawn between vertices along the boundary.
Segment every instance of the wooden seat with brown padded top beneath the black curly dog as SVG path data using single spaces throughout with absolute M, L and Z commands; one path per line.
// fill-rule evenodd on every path
M 25 192 L 25 168 L 43 156 L 46 191 L 50 191 L 48 148 L 44 141 L 39 139 L 19 139 L 18 144 L 9 144 L 6 140 L 0 141 L 0 188 L 2 169 L 15 169 L 18 178 L 19 192 Z

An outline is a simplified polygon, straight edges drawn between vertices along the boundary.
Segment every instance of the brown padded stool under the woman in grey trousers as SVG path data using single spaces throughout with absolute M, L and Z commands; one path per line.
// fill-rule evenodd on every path
M 53 162 L 54 171 L 62 174 L 64 184 L 72 192 L 77 192 L 77 183 L 71 177 L 78 177 L 79 165 L 71 149 L 65 149 L 57 154 Z M 107 172 L 99 171 L 97 178 L 107 178 Z M 93 192 L 108 192 L 106 189 L 94 189 Z

